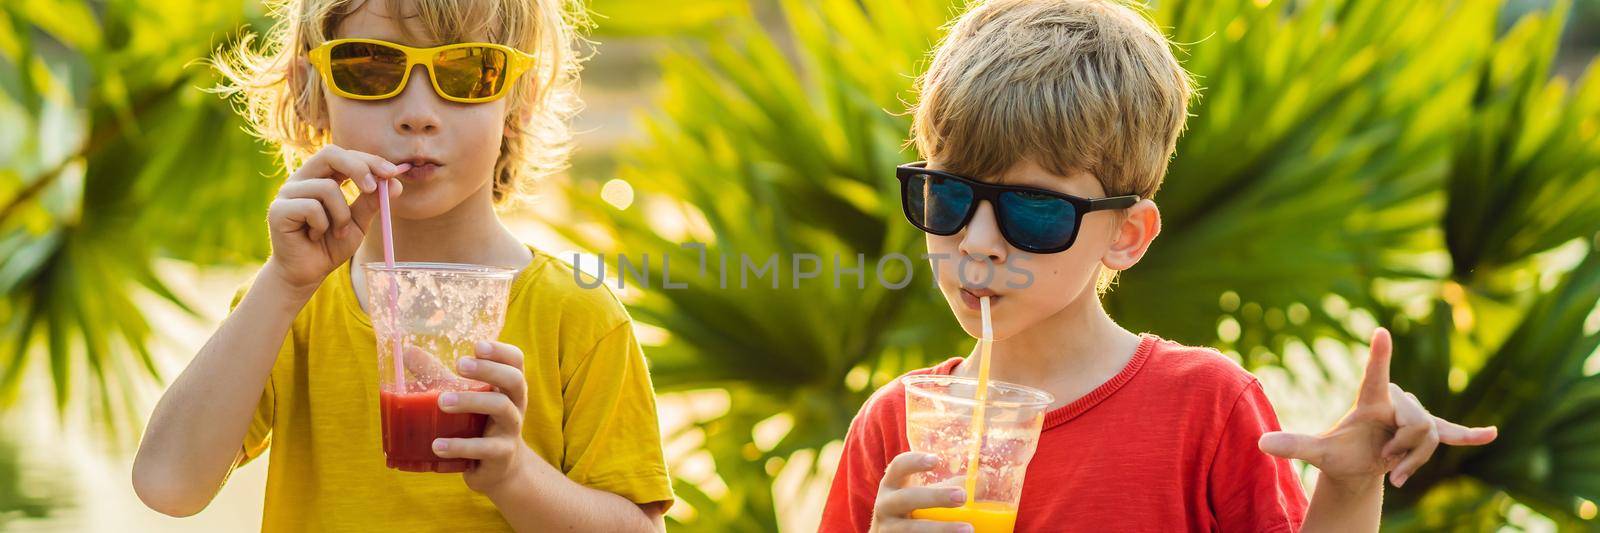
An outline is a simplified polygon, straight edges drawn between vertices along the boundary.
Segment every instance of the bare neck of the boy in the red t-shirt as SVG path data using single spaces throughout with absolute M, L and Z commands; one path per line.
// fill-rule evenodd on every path
M 1072 403 L 1117 376 L 1141 343 L 1101 306 L 1091 283 L 1059 312 L 1010 338 L 995 341 L 990 379 L 1043 389 L 1054 407 Z M 973 354 L 952 373 L 978 376 Z

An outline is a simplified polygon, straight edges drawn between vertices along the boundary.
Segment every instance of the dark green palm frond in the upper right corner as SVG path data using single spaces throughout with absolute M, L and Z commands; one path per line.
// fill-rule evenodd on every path
M 1499 285 L 1485 277 L 1600 227 L 1600 62 L 1576 85 L 1550 80 L 1562 14 L 1520 21 L 1475 72 L 1446 181 L 1445 238 L 1462 282 Z

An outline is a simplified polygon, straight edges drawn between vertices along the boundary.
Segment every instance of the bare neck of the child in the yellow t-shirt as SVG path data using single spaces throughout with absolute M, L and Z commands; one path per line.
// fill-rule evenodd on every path
M 533 253 L 494 214 L 490 186 L 443 214 L 427 219 L 394 218 L 395 261 L 467 262 L 522 269 Z M 384 235 L 373 218 L 357 264 L 384 261 Z

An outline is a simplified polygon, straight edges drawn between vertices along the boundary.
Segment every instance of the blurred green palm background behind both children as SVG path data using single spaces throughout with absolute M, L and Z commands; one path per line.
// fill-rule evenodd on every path
M 589 8 L 579 149 L 506 213 L 523 238 L 683 266 L 686 242 L 845 267 L 923 251 L 891 168 L 917 158 L 902 110 L 960 2 Z M 1112 315 L 1224 351 L 1307 432 L 1349 407 L 1386 325 L 1397 383 L 1501 427 L 1389 488 L 1386 528 L 1600 530 L 1600 0 L 1152 13 L 1203 90 L 1155 198 L 1165 232 Z M 266 459 L 184 520 L 128 477 L 165 383 L 267 254 L 285 173 L 197 62 L 267 24 L 254 0 L 0 3 L 0 530 L 259 527 Z M 814 530 L 867 394 L 973 343 L 925 264 L 906 290 L 870 266 L 866 290 L 829 266 L 776 290 L 651 274 L 619 293 L 678 531 Z

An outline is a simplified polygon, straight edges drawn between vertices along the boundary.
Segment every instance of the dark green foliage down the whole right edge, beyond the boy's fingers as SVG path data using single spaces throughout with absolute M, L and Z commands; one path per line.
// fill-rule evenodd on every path
M 1402 336 L 1427 357 L 1395 379 L 1437 413 L 1502 429 L 1437 458 L 1422 487 L 1464 474 L 1576 523 L 1576 498 L 1600 499 L 1600 61 L 1578 83 L 1549 78 L 1562 14 L 1525 18 L 1477 67 L 1445 179 L 1451 282 Z M 1586 254 L 1568 269 L 1557 246 Z M 1451 386 L 1453 368 L 1470 381 Z M 1418 498 L 1408 485 L 1386 503 Z

